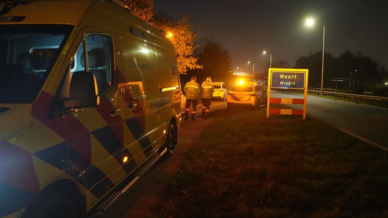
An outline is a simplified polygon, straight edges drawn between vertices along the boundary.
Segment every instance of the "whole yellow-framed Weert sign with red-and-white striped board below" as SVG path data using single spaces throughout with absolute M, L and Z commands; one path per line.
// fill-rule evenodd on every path
M 300 115 L 306 119 L 308 69 L 268 69 L 267 118 L 270 114 Z M 271 98 L 271 88 L 304 90 L 303 98 Z M 303 110 L 270 108 L 270 103 L 303 104 Z

